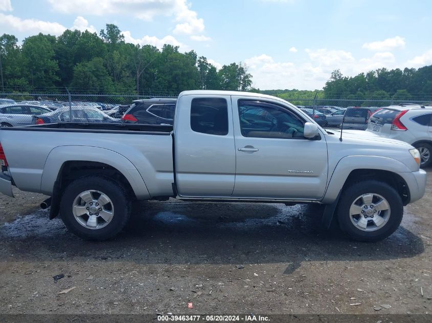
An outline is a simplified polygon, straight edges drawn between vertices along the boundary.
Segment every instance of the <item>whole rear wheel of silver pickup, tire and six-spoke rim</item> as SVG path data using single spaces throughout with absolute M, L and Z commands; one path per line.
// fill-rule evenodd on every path
M 70 183 L 60 202 L 66 228 L 86 240 L 106 240 L 118 234 L 130 216 L 125 189 L 103 176 Z

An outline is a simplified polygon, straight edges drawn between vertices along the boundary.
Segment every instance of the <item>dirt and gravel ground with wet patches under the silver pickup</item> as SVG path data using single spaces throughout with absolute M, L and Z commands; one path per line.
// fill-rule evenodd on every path
M 44 196 L 16 190 L 0 196 L 0 313 L 430 313 L 428 173 L 379 243 L 323 230 L 322 207 L 174 200 L 138 204 L 115 240 L 85 242 L 38 210 Z

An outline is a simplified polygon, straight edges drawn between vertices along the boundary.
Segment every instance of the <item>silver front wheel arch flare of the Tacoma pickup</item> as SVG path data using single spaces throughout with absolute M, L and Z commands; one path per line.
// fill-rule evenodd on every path
M 400 161 L 380 156 L 347 156 L 339 160 L 333 170 L 322 203 L 330 204 L 336 200 L 337 194 L 345 184 L 351 171 L 356 169 L 377 169 L 391 172 L 410 172 Z

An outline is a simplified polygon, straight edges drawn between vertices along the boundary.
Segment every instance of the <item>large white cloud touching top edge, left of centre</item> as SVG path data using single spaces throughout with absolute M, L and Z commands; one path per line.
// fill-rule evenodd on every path
M 106 16 L 124 15 L 151 21 L 156 16 L 174 16 L 174 34 L 199 34 L 204 20 L 190 9 L 187 0 L 48 0 L 55 11 Z

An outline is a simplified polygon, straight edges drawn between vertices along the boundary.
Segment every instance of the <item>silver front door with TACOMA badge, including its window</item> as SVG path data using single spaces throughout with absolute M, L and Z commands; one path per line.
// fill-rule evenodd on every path
M 324 134 L 305 138 L 306 120 L 294 108 L 259 100 L 232 96 L 236 148 L 232 196 L 319 200 L 328 174 Z

